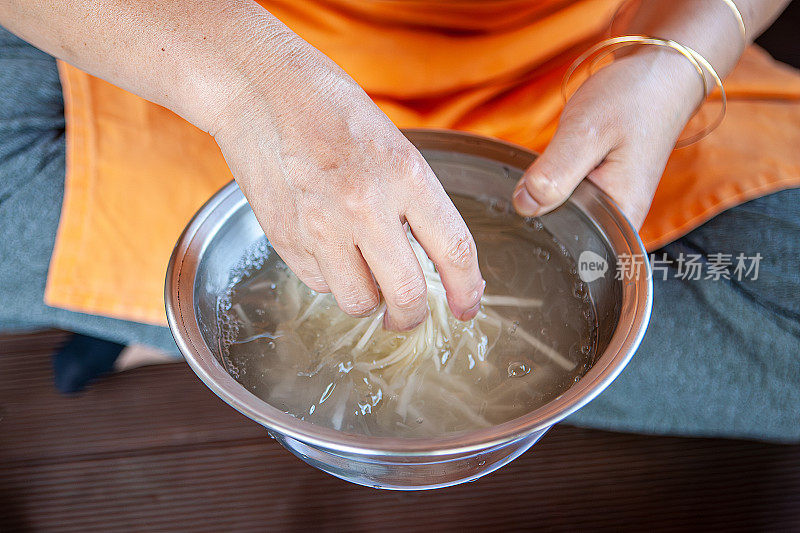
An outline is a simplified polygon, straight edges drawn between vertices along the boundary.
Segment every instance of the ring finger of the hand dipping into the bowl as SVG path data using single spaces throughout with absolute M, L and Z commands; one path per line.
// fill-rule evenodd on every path
M 317 251 L 316 257 L 322 275 L 342 311 L 363 317 L 378 308 L 378 287 L 355 245 L 328 246 Z

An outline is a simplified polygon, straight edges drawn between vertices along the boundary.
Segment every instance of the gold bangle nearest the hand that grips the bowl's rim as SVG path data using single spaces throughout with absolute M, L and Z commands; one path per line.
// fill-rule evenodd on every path
M 717 126 L 719 126 L 719 124 L 722 122 L 722 119 L 725 117 L 725 111 L 727 109 L 727 97 L 725 94 L 725 88 L 722 85 L 722 80 L 720 79 L 719 75 L 714 70 L 714 68 L 711 66 L 711 64 L 708 62 L 708 60 L 706 60 L 702 55 L 697 53 L 695 50 L 689 48 L 688 46 L 682 45 L 675 41 L 671 41 L 669 39 L 661 39 L 658 37 L 647 37 L 644 35 L 623 35 L 621 37 L 612 37 L 595 44 L 594 46 L 586 50 L 583 54 L 578 56 L 578 58 L 575 59 L 575 61 L 573 61 L 573 63 L 564 73 L 564 77 L 561 80 L 561 96 L 564 99 L 564 103 L 566 103 L 567 100 L 569 100 L 569 95 L 567 94 L 567 91 L 570 79 L 575 74 L 575 72 L 580 68 L 580 66 L 584 62 L 586 62 L 587 59 L 593 57 L 598 52 L 603 51 L 606 48 L 609 48 L 610 50 L 606 51 L 606 53 L 604 53 L 602 56 L 595 58 L 595 60 L 592 63 L 592 65 L 594 66 L 599 60 L 608 56 L 609 54 L 613 54 L 620 48 L 639 45 L 639 44 L 671 48 L 676 52 L 680 53 L 682 56 L 684 56 L 687 60 L 689 60 L 689 62 L 692 64 L 692 66 L 695 68 L 698 75 L 700 76 L 700 79 L 702 80 L 704 97 L 708 96 L 709 90 L 708 90 L 708 82 L 706 81 L 706 75 L 703 69 L 709 72 L 711 78 L 714 80 L 714 84 L 716 85 L 716 87 L 719 87 L 720 89 L 721 108 L 720 108 L 720 113 L 717 115 L 714 121 L 712 121 L 711 124 L 703 128 L 702 130 L 700 130 L 698 133 L 690 135 L 689 137 L 686 137 L 684 139 L 679 139 L 675 144 L 675 147 L 683 148 L 685 146 L 689 146 L 690 144 L 694 144 L 703 137 L 707 136 L 712 131 L 714 131 L 714 129 L 716 129 Z M 591 76 L 592 74 L 593 72 L 590 72 L 589 75 Z

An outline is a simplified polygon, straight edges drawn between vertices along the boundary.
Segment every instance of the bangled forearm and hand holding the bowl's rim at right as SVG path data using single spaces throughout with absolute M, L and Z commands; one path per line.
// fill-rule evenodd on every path
M 725 2 L 641 2 L 623 34 L 672 39 L 700 53 L 724 78 L 788 0 L 736 0 L 742 27 Z M 633 48 L 587 79 L 570 98 L 555 136 L 514 192 L 525 216 L 559 205 L 585 177 L 640 228 L 675 142 L 700 104 L 703 83 L 678 52 Z M 713 79 L 706 75 L 713 86 Z

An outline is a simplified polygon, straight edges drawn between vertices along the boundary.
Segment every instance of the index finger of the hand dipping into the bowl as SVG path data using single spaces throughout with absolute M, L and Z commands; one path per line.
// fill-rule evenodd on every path
M 459 320 L 478 314 L 486 282 L 478 266 L 475 240 L 431 171 L 432 191 L 420 195 L 405 213 L 419 241 L 442 278 L 450 310 Z

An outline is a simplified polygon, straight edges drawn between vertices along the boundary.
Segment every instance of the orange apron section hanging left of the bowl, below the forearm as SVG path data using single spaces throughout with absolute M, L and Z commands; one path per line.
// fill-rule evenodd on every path
M 164 324 L 172 247 L 231 179 L 214 140 L 170 111 L 59 64 L 67 173 L 45 303 Z

